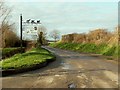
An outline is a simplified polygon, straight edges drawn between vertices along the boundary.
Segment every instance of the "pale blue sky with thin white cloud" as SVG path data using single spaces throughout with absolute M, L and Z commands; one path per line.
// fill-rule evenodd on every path
M 46 1 L 46 2 L 45 2 Z M 19 16 L 23 20 L 41 20 L 48 33 L 54 29 L 61 35 L 68 33 L 86 33 L 97 28 L 113 31 L 118 25 L 118 2 L 98 0 L 71 2 L 49 2 L 48 0 L 7 0 L 8 7 L 12 7 L 10 20 L 16 22 L 19 32 Z

